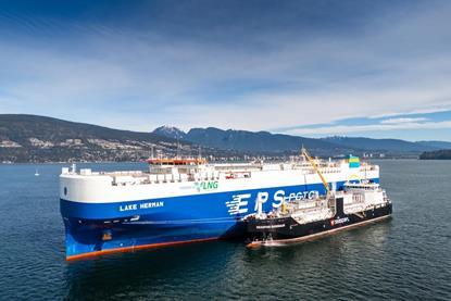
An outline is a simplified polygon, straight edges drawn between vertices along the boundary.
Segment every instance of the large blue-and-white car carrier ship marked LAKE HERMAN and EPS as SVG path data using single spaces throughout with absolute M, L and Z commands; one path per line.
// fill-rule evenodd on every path
M 379 167 L 312 159 L 333 190 L 379 181 Z M 149 159 L 149 171 L 63 167 L 60 206 L 67 260 L 228 237 L 243 237 L 243 217 L 326 195 L 305 155 L 281 163 Z

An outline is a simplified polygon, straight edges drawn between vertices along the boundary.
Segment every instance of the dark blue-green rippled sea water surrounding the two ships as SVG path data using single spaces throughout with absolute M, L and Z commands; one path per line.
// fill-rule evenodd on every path
M 388 222 L 278 249 L 205 242 L 72 263 L 62 165 L 0 165 L 0 299 L 451 300 L 451 161 L 376 163 L 393 201 Z

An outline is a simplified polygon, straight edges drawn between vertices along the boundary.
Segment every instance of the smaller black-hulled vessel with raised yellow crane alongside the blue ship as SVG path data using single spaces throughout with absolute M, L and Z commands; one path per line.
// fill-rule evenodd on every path
M 301 242 L 391 216 L 391 201 L 378 184 L 348 181 L 340 191 L 331 190 L 305 149 L 302 153 L 322 179 L 326 196 L 284 201 L 270 213 L 263 212 L 258 200 L 256 213 L 243 218 L 249 248 Z

